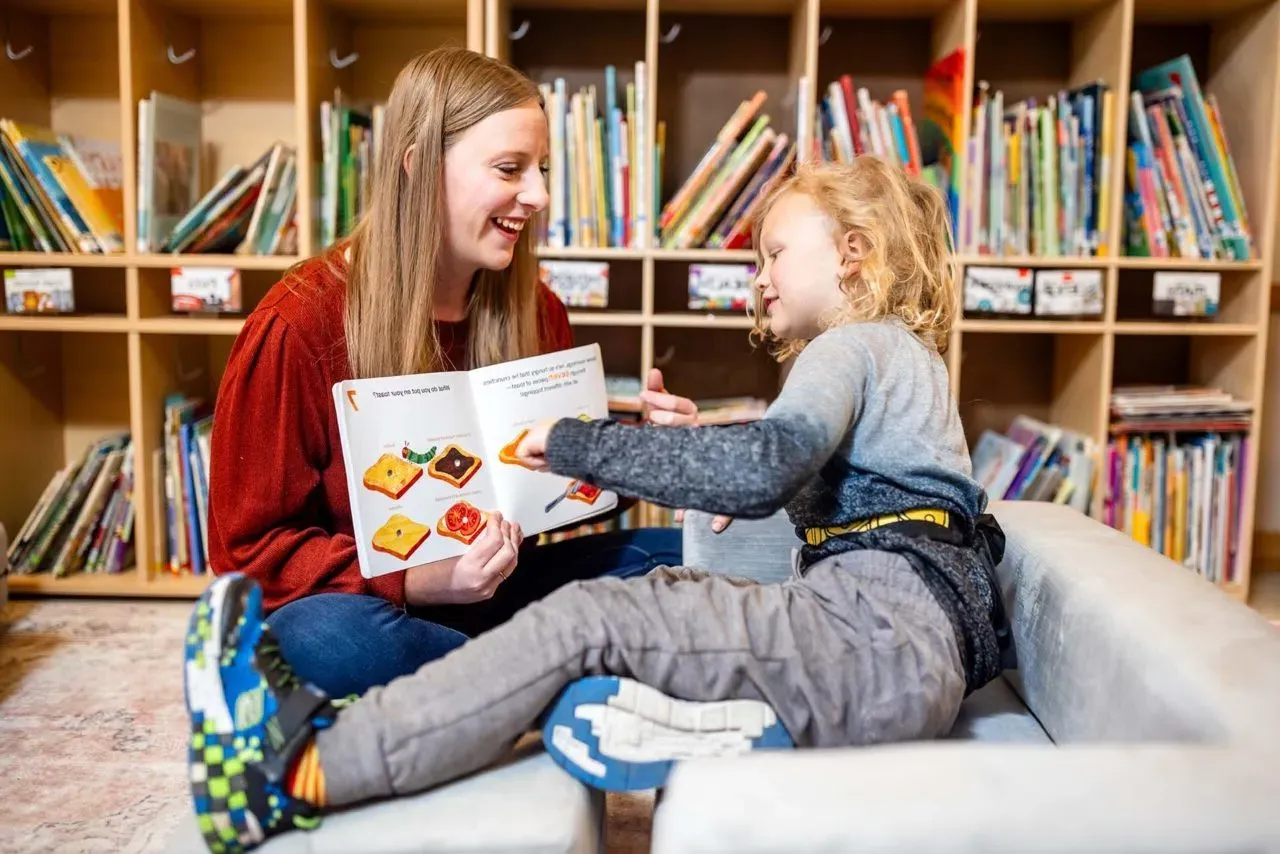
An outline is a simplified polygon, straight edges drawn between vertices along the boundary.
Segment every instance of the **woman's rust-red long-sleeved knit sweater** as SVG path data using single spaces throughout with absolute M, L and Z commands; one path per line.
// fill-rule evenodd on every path
M 360 574 L 332 387 L 349 379 L 344 282 L 320 259 L 302 283 L 276 283 L 232 346 L 214 408 L 209 557 L 218 575 L 244 572 L 268 612 L 321 592 L 404 603 L 404 574 Z M 545 287 L 544 352 L 573 346 L 563 303 Z M 465 323 L 436 323 L 454 365 L 465 365 Z

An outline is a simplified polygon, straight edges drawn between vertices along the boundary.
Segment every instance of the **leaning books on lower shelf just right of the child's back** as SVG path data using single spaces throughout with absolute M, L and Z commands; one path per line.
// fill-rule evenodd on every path
M 978 437 L 973 476 L 993 501 L 1047 501 L 1088 513 L 1097 456 L 1092 438 L 1019 415 L 1005 433 Z

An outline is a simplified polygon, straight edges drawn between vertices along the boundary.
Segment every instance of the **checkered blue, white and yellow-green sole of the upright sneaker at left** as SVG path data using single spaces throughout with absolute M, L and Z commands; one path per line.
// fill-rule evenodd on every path
M 196 823 L 210 851 L 253 848 L 265 837 L 244 800 L 239 773 L 243 744 L 227 707 L 221 661 L 239 644 L 241 616 L 251 643 L 261 631 L 253 584 L 242 576 L 215 579 L 192 609 L 183 654 L 183 690 L 191 720 L 188 781 Z M 232 763 L 228 767 L 228 763 Z

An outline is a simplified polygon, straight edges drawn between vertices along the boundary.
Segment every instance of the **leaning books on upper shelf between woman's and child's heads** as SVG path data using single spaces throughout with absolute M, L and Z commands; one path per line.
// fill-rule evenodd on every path
M 749 248 L 755 211 L 790 172 L 796 145 L 762 113 L 764 91 L 739 104 L 658 218 L 663 248 Z

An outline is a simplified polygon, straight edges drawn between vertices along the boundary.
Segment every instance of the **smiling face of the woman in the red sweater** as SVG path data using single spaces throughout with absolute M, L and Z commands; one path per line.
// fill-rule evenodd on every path
M 548 202 L 547 117 L 536 101 L 470 127 L 444 155 L 445 259 L 470 275 L 511 264 L 520 232 Z

